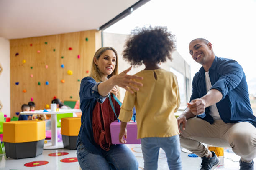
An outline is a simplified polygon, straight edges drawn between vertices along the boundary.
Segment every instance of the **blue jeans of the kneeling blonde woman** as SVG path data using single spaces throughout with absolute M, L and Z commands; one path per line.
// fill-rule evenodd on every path
M 112 145 L 106 155 L 89 153 L 82 143 L 77 146 L 82 170 L 138 170 L 138 161 L 125 145 Z

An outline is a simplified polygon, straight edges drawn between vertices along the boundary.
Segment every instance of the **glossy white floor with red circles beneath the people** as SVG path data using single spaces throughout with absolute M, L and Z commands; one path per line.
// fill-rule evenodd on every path
M 143 170 L 143 156 L 141 153 L 141 145 L 127 145 L 133 151 L 134 155 L 138 159 L 139 169 Z M 67 155 L 63 156 L 48 156 L 50 153 L 67 152 Z M 58 149 L 58 150 L 44 150 L 42 155 L 36 158 L 25 159 L 11 159 L 6 158 L 4 154 L 0 154 L 0 170 L 79 170 L 78 162 L 64 163 L 61 162 L 64 158 L 70 158 L 74 160 L 76 157 L 76 150 Z M 73 159 L 72 159 L 73 158 Z M 239 169 L 239 157 L 236 156 L 230 148 L 224 148 L 224 165 L 216 168 L 215 170 L 238 170 Z M 36 167 L 26 167 L 24 164 L 32 161 L 48 161 L 46 165 Z M 256 160 L 254 160 L 256 161 Z M 182 152 L 182 167 L 183 170 L 198 170 L 200 167 L 201 158 L 188 157 L 188 153 Z M 38 163 L 37 163 L 38 164 Z M 163 150 L 159 153 L 158 170 L 168 170 L 166 163 L 166 156 Z

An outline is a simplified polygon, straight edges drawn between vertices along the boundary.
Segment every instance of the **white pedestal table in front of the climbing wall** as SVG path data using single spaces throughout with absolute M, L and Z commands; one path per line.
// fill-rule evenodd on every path
M 48 112 L 43 112 L 44 110 L 35 110 L 20 112 L 21 115 L 36 115 L 36 114 L 48 114 L 51 115 L 51 143 L 44 144 L 44 149 L 59 149 L 63 148 L 63 142 L 58 142 L 57 139 L 57 114 L 62 113 L 76 113 L 82 112 L 80 109 L 59 109 L 59 111 L 51 111 L 47 109 Z

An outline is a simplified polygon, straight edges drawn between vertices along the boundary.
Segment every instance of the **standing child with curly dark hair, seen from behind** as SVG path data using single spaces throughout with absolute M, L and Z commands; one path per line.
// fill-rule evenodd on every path
M 179 130 L 174 112 L 180 105 L 179 88 L 176 76 L 161 69 L 159 64 L 172 60 L 175 38 L 166 27 L 137 28 L 128 38 L 123 51 L 125 60 L 131 65 L 144 64 L 146 68 L 137 76 L 143 84 L 139 91 L 126 91 L 119 119 L 121 130 L 120 143 L 126 143 L 126 125 L 131 120 L 133 106 L 136 108 L 138 138 L 144 159 L 144 170 L 156 170 L 159 149 L 167 157 L 169 169 L 181 170 Z M 133 90 L 133 89 L 132 89 Z

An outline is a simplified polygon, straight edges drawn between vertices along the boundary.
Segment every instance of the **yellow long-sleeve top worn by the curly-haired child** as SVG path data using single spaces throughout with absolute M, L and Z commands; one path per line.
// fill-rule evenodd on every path
M 180 105 L 177 77 L 164 69 L 142 70 L 135 75 L 143 77 L 136 80 L 143 83 L 143 87 L 133 94 L 126 91 L 119 119 L 129 122 L 135 105 L 138 139 L 178 135 L 174 116 Z

